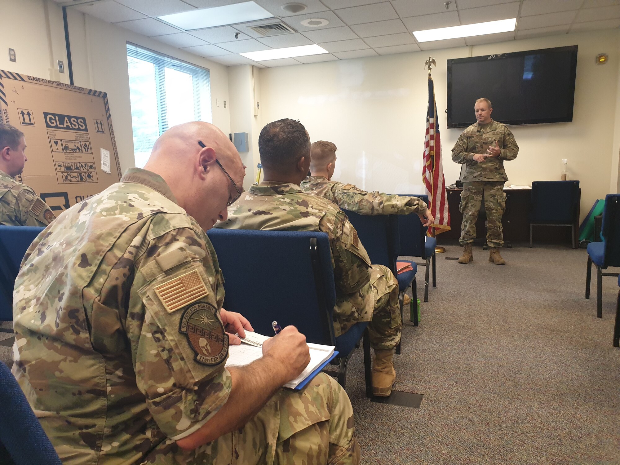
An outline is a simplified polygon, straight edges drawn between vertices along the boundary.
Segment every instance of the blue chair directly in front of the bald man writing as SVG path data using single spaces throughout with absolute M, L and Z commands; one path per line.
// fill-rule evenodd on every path
M 275 320 L 281 327 L 294 325 L 308 342 L 335 345 L 340 359 L 335 374 L 343 387 L 348 360 L 362 339 L 366 395 L 372 395 L 368 322 L 334 336 L 336 288 L 325 232 L 210 229 L 207 234 L 226 281 L 225 309 L 241 313 L 260 334 L 273 334 Z

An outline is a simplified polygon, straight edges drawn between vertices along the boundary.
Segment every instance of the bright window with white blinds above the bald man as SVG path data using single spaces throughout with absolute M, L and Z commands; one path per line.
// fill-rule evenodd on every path
M 170 126 L 211 122 L 209 70 L 127 44 L 133 155 L 146 164 L 156 139 Z

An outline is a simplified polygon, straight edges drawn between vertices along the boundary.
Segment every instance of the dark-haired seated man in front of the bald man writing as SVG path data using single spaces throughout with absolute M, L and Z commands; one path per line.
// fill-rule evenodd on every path
M 389 396 L 396 379 L 394 348 L 401 340 L 398 281 L 382 265 L 372 265 L 347 215 L 334 203 L 299 187 L 309 167 L 310 139 L 301 123 L 285 119 L 266 125 L 259 136 L 265 177 L 228 209 L 216 228 L 327 232 L 334 260 L 334 334 L 370 321 L 374 348 L 373 393 Z

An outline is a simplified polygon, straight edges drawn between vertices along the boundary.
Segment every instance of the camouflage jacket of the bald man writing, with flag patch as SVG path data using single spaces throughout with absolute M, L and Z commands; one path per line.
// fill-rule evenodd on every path
M 221 408 L 222 283 L 205 232 L 146 170 L 35 239 L 15 281 L 13 373 L 64 464 L 146 463 Z

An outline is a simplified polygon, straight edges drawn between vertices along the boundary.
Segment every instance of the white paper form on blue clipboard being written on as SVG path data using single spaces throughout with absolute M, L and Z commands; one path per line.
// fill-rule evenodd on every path
M 241 338 L 241 345 L 229 345 L 228 346 L 228 360 L 226 360 L 226 367 L 229 366 L 244 366 L 249 365 L 254 360 L 259 360 L 263 356 L 263 342 L 269 339 L 268 336 L 263 336 L 252 331 L 246 331 L 246 337 Z M 295 379 L 291 379 L 284 387 L 290 387 L 298 391 L 308 384 L 314 376 L 325 368 L 325 365 L 330 362 L 338 351 L 334 350 L 333 345 L 321 345 L 308 342 L 308 348 L 310 349 L 310 363 L 304 368 L 304 370 Z

